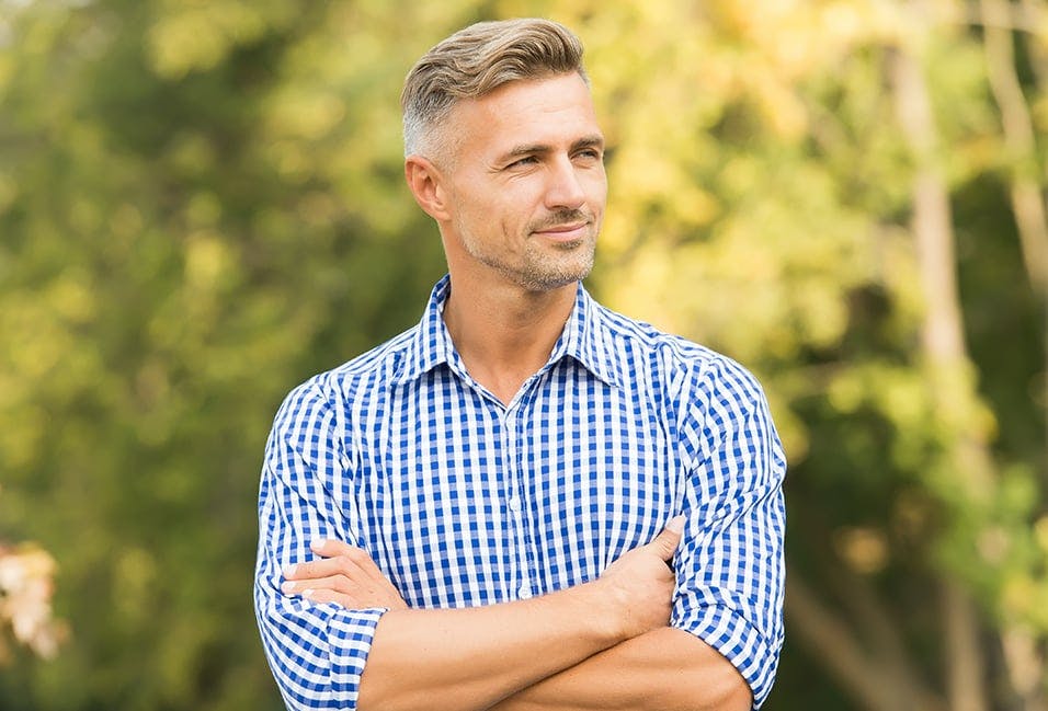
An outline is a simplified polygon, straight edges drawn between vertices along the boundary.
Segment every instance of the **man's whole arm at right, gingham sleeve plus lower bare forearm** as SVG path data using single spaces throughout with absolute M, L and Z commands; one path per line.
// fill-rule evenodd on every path
M 785 461 L 749 374 L 726 362 L 692 375 L 680 428 L 688 524 L 674 561 L 672 627 L 590 657 L 495 711 L 744 711 L 767 697 L 782 644 Z

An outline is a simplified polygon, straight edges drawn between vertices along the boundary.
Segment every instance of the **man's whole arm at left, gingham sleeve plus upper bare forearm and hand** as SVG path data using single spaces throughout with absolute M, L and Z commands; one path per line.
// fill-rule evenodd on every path
M 330 560 L 305 562 L 307 541 L 357 541 L 360 515 L 344 494 L 355 454 L 339 416 L 316 383 L 297 389 L 277 415 L 263 468 L 255 608 L 289 709 L 486 709 L 669 620 L 673 576 L 664 561 L 680 521 L 601 578 L 531 600 L 409 610 L 374 580 L 355 588 L 364 598 L 296 595 L 332 577 Z M 296 590 L 287 585 L 295 581 L 312 584 Z

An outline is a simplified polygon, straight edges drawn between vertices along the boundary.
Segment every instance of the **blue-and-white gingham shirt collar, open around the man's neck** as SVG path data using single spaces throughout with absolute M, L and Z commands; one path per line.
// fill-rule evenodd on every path
M 455 351 L 447 326 L 444 325 L 444 305 L 447 302 L 448 294 L 451 294 L 451 277 L 444 275 L 430 294 L 425 312 L 407 349 L 405 363 L 395 378 L 397 383 L 413 380 L 440 365 L 447 365 L 453 370 L 459 371 L 459 375 L 466 376 L 462 358 Z M 615 336 L 604 323 L 605 318 L 603 309 L 580 282 L 576 291 L 574 308 L 544 369 L 570 356 L 604 382 L 622 387 L 622 375 L 614 367 L 610 353 L 610 349 L 614 347 L 612 341 Z

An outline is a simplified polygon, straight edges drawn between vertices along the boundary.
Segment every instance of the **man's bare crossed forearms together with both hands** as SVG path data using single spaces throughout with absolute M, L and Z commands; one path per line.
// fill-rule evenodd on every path
M 411 610 L 358 549 L 285 572 L 283 590 L 346 609 L 387 608 L 361 679 L 361 711 L 687 709 L 744 711 L 749 686 L 704 642 L 668 627 L 677 518 L 590 583 L 468 609 Z

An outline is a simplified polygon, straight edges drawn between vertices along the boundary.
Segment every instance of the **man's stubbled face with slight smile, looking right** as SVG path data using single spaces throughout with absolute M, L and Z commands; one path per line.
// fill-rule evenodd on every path
M 527 290 L 590 273 L 604 216 L 604 138 L 577 73 L 516 81 L 455 106 L 449 262 Z

